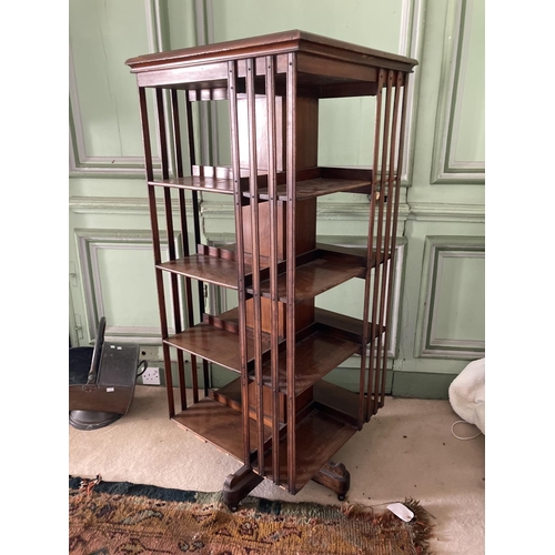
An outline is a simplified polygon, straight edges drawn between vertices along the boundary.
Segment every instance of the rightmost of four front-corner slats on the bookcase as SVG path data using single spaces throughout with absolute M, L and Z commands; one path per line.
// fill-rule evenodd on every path
M 287 486 L 295 492 L 296 445 L 295 445 L 295 205 L 296 205 L 296 54 L 287 54 L 286 71 L 286 376 L 287 376 Z

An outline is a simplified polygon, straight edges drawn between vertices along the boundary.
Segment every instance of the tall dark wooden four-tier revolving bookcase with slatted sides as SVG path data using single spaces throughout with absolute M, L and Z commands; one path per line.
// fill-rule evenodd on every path
M 243 463 L 223 486 L 232 508 L 263 478 L 292 494 L 315 480 L 344 498 L 349 472 L 331 460 L 384 403 L 405 91 L 416 60 L 295 30 L 125 63 L 139 87 L 170 417 Z M 374 128 L 377 171 L 319 167 L 319 100 L 345 97 L 375 98 L 374 121 L 360 125 Z M 231 167 L 196 162 L 193 104 L 206 100 L 229 103 Z M 316 242 L 317 198 L 337 192 L 367 200 L 365 249 Z M 202 244 L 200 193 L 231 196 L 234 244 Z M 162 260 L 161 236 L 178 231 L 180 249 L 169 240 Z M 315 306 L 351 279 L 364 280 L 361 319 Z M 238 306 L 206 314 L 203 284 L 235 290 Z M 356 353 L 359 393 L 324 380 Z M 210 387 L 210 363 L 236 379 Z

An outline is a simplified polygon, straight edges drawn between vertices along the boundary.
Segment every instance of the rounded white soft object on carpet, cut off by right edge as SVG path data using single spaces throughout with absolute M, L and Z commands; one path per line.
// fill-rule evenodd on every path
M 451 383 L 448 396 L 453 411 L 485 435 L 485 359 L 464 367 Z

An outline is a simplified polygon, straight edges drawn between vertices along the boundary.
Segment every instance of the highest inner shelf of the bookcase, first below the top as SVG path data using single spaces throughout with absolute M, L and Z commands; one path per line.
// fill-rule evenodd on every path
M 268 175 L 258 176 L 259 200 L 269 199 Z M 286 173 L 276 174 L 278 199 L 286 201 Z M 229 168 L 193 167 L 193 175 L 188 178 L 157 179 L 149 185 L 188 189 L 210 193 L 233 194 L 233 179 Z M 249 178 L 241 176 L 244 196 L 250 196 Z M 325 194 L 347 192 L 370 194 L 372 170 L 360 168 L 309 168 L 296 172 L 296 200 L 309 200 Z

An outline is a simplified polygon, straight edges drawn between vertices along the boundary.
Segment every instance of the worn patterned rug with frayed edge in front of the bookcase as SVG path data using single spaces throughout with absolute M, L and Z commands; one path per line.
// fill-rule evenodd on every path
M 386 509 L 256 497 L 233 513 L 220 492 L 70 477 L 69 553 L 430 555 L 428 513 L 414 500 L 402 503 L 414 513 L 408 523 Z

